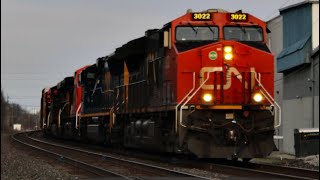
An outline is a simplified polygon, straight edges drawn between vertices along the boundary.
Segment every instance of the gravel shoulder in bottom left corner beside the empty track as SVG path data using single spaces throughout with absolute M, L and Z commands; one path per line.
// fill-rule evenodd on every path
M 30 148 L 23 148 L 1 132 L 1 179 L 79 179 L 58 166 L 58 160 L 44 158 Z

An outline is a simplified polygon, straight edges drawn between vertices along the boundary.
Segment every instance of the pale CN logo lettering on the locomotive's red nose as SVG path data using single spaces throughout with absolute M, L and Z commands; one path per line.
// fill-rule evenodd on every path
M 222 72 L 222 67 L 203 67 L 200 70 L 200 85 L 203 83 L 204 79 L 206 78 L 205 73 L 213 73 L 213 72 Z M 250 68 L 250 72 L 255 72 L 254 67 Z M 232 83 L 232 77 L 236 77 L 241 83 L 242 83 L 242 75 L 241 73 L 235 68 L 235 67 L 230 67 L 226 70 L 226 74 L 224 75 L 226 77 L 226 83 L 223 85 L 223 89 L 227 90 L 231 87 Z M 251 86 L 254 86 L 255 80 L 253 77 L 253 73 L 251 75 Z M 213 81 L 208 81 L 208 82 L 213 82 Z M 251 87 L 251 88 L 252 88 Z M 245 88 L 248 89 L 248 82 L 245 82 Z M 213 89 L 221 89 L 220 84 L 217 85 L 217 87 L 214 87 L 213 84 L 204 84 L 202 86 L 202 89 L 206 90 L 213 90 Z

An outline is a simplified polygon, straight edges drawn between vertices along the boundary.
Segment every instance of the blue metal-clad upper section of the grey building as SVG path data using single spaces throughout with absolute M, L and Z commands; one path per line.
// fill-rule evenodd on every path
M 311 52 L 312 4 L 306 3 L 280 12 L 283 17 L 283 50 L 277 57 L 278 72 L 308 62 Z M 306 56 L 307 55 L 307 56 Z

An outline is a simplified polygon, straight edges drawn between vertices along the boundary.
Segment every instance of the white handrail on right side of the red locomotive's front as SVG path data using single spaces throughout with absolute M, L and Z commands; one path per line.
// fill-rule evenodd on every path
M 280 107 L 280 105 L 274 100 L 274 98 L 269 94 L 269 92 L 266 90 L 266 88 L 262 85 L 262 83 L 261 83 L 261 74 L 260 74 L 260 73 L 256 73 L 256 72 L 254 72 L 254 71 L 253 71 L 253 73 L 255 74 L 254 77 L 255 77 L 256 81 L 259 83 L 259 87 L 261 87 L 261 89 L 262 89 L 263 91 L 265 91 L 265 92 L 261 91 L 261 93 L 262 93 L 262 94 L 266 97 L 266 99 L 272 104 L 271 107 L 275 107 L 275 106 L 276 106 L 276 108 L 274 108 L 274 109 L 275 109 L 275 114 L 278 113 L 278 110 L 277 110 L 277 109 L 279 109 L 279 122 L 278 122 L 278 124 L 276 124 L 276 122 L 274 123 L 274 128 L 278 128 L 278 127 L 281 126 L 281 107 Z

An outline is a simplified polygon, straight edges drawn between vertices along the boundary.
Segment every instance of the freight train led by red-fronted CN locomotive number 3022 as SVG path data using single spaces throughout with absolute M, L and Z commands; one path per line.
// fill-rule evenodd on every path
M 242 11 L 188 11 L 78 70 L 63 90 L 44 90 L 43 128 L 201 158 L 265 157 L 280 126 L 267 32 Z

